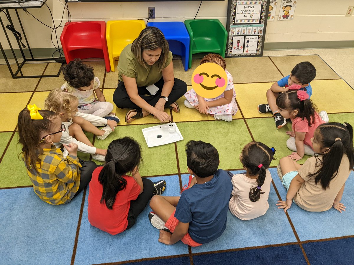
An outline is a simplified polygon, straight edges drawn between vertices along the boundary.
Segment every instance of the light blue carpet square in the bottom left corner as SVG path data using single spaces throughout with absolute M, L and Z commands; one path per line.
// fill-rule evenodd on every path
M 33 188 L 0 190 L 0 264 L 70 264 L 82 192 L 50 205 Z

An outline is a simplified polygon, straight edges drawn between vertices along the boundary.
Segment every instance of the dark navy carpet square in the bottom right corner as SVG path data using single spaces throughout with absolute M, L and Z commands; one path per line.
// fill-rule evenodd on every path
M 302 244 L 312 265 L 353 264 L 354 238 Z

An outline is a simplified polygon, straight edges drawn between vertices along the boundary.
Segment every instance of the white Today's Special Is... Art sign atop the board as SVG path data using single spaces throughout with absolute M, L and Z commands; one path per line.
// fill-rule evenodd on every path
M 262 1 L 236 1 L 235 24 L 259 23 Z

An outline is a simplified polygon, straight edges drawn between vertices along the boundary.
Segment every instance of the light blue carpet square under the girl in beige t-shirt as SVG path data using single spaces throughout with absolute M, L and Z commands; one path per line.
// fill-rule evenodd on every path
M 286 189 L 276 173 L 276 168 L 270 169 L 276 188 L 283 200 L 286 198 Z M 295 230 L 301 241 L 321 238 L 354 235 L 354 172 L 350 173 L 341 202 L 346 206 L 346 211 L 339 213 L 331 208 L 325 212 L 308 212 L 302 210 L 294 202 L 287 210 Z M 276 207 L 276 206 L 275 206 Z M 276 209 L 282 211 L 281 209 Z M 284 214 L 284 211 L 283 211 Z

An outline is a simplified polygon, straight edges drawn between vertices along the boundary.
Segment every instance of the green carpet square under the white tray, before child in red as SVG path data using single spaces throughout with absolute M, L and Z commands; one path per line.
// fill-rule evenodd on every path
M 109 143 L 113 140 L 130 136 L 137 140 L 142 147 L 144 163 L 139 171 L 142 176 L 163 176 L 178 173 L 175 145 L 173 143 L 150 148 L 147 146 L 141 130 L 152 126 L 156 126 L 156 124 L 119 126 L 105 140 L 98 140 L 96 138 L 95 146 L 97 148 L 107 149 Z M 178 125 L 178 128 L 179 126 L 180 125 Z M 96 160 L 95 162 L 97 164 L 103 163 Z

